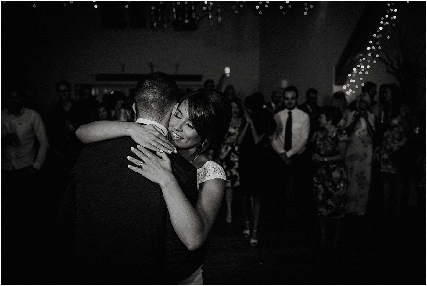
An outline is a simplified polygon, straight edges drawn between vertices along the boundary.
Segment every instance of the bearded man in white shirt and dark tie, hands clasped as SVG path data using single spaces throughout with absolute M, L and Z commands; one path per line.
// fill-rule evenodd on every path
M 285 195 L 287 200 L 301 209 L 306 188 L 303 187 L 304 163 L 307 162 L 305 145 L 310 132 L 310 117 L 307 113 L 298 109 L 298 89 L 288 86 L 283 91 L 285 109 L 275 114 L 277 124 L 276 132 L 270 136 L 270 143 L 283 161 L 283 172 L 285 177 Z M 283 192 L 279 192 L 281 194 Z

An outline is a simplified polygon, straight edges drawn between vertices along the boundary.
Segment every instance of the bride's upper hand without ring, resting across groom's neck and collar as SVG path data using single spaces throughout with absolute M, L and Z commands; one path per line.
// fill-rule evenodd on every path
M 162 130 L 154 124 L 132 124 L 128 128 L 132 139 L 143 147 L 155 152 L 176 153 L 176 148 L 163 135 Z

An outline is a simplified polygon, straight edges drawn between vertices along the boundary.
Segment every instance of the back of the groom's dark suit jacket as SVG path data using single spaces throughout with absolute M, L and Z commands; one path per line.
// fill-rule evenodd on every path
M 70 173 L 80 283 L 156 283 L 164 277 L 167 208 L 158 184 L 127 168 L 132 146 L 130 137 L 89 144 Z M 175 176 L 182 183 L 194 169 L 180 167 Z

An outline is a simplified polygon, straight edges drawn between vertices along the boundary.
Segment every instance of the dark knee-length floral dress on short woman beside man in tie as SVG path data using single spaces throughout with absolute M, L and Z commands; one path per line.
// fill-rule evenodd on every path
M 338 155 L 338 143 L 347 140 L 347 133 L 343 129 L 337 129 L 332 134 L 328 134 L 327 130 L 319 130 L 311 139 L 315 152 L 322 157 Z M 345 215 L 347 199 L 344 160 L 320 162 L 314 173 L 313 186 L 318 215 L 342 218 Z

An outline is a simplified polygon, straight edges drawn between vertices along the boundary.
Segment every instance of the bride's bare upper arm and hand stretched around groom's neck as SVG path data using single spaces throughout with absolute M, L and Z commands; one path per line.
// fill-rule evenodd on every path
M 123 136 L 131 136 L 138 144 L 153 151 L 176 153 L 160 128 L 154 124 L 141 125 L 123 121 L 94 121 L 83 124 L 76 130 L 76 136 L 85 144 Z

